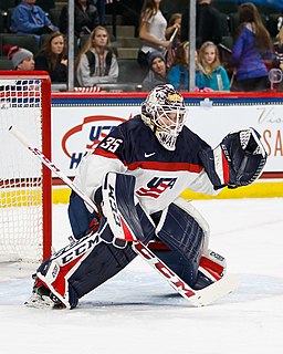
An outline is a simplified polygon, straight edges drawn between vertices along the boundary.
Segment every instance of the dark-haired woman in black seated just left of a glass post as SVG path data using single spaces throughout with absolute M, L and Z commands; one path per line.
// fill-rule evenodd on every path
M 66 83 L 67 50 L 63 33 L 52 33 L 42 44 L 40 53 L 35 56 L 35 70 L 49 72 L 52 83 Z

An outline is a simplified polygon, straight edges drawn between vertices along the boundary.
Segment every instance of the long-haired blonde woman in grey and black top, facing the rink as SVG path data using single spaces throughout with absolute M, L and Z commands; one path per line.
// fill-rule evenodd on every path
M 104 27 L 97 25 L 91 33 L 75 61 L 75 73 L 80 86 L 117 82 L 118 63 Z

